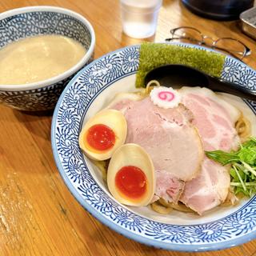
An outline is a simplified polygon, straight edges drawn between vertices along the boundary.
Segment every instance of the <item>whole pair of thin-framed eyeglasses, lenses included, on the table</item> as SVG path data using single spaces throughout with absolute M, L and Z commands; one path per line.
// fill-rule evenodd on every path
M 243 42 L 235 38 L 218 38 L 214 40 L 199 30 L 191 26 L 180 26 L 170 30 L 171 38 L 166 38 L 166 42 L 182 40 L 182 42 L 194 42 L 198 45 L 210 46 L 213 49 L 225 51 L 234 58 L 242 60 L 250 55 L 250 48 Z

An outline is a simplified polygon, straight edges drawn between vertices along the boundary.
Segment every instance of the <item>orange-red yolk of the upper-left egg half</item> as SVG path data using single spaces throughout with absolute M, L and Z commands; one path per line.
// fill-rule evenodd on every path
M 114 131 L 103 124 L 90 126 L 86 134 L 86 141 L 94 150 L 109 150 L 114 146 Z

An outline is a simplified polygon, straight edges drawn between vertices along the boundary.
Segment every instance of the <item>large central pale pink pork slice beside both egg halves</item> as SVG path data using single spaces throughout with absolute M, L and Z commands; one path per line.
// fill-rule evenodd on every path
M 183 105 L 167 110 L 154 106 L 149 97 L 130 102 L 124 114 L 126 143 L 142 146 L 154 163 L 154 198 L 178 202 L 184 181 L 198 175 L 204 155 L 192 114 Z

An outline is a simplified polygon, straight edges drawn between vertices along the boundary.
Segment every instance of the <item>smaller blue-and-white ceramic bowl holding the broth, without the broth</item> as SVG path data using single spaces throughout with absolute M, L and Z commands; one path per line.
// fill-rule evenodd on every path
M 86 54 L 70 70 L 54 78 L 26 85 L 0 85 L 0 103 L 18 110 L 52 110 L 74 74 L 93 59 L 94 29 L 86 18 L 74 11 L 54 6 L 33 6 L 0 14 L 0 48 L 39 34 L 73 38 L 86 48 Z

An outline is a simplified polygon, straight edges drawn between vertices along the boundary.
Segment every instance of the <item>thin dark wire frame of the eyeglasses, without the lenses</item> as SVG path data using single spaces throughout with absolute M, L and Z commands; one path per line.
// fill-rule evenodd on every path
M 199 41 L 199 40 L 196 39 L 196 38 L 189 38 L 189 37 L 187 37 L 187 38 L 186 38 L 186 37 L 177 37 L 177 38 L 174 38 L 175 32 L 176 32 L 177 30 L 180 30 L 180 29 L 191 29 L 191 30 L 195 30 L 195 31 L 198 32 L 198 34 L 200 34 L 202 40 Z M 191 41 L 191 42 L 198 42 L 199 45 L 209 46 L 209 47 L 211 47 L 212 49 L 223 50 L 223 51 L 225 51 L 226 53 L 232 55 L 234 58 L 238 58 L 238 56 L 236 56 L 236 55 L 235 55 L 234 53 L 232 53 L 230 50 L 226 50 L 226 49 L 224 49 L 224 48 L 222 48 L 222 47 L 216 46 L 216 44 L 217 44 L 220 40 L 223 40 L 223 39 L 225 39 L 225 40 L 226 40 L 226 39 L 234 40 L 234 41 L 236 41 L 236 42 L 241 43 L 242 46 L 245 47 L 245 50 L 244 50 L 243 53 L 242 53 L 242 52 L 238 52 L 238 53 L 237 53 L 237 54 L 239 54 L 239 55 L 242 56 L 242 58 L 238 58 L 238 59 L 242 60 L 243 58 L 245 58 L 245 57 L 247 57 L 247 56 L 249 56 L 249 55 L 251 54 L 250 48 L 249 48 L 248 46 L 246 46 L 246 44 L 244 44 L 243 42 L 241 42 L 240 40 L 238 40 L 238 39 L 236 39 L 236 38 L 228 38 L 228 37 L 227 37 L 227 38 L 218 38 L 218 39 L 214 40 L 213 38 L 210 38 L 209 36 L 207 36 L 207 35 L 205 35 L 205 34 L 202 34 L 202 32 L 201 32 L 200 30 L 196 29 L 196 28 L 193 27 L 193 26 L 179 26 L 179 27 L 176 27 L 176 28 L 170 30 L 170 34 L 171 34 L 172 38 L 166 38 L 166 42 L 170 42 L 171 40 L 187 39 L 187 40 L 189 40 L 189 41 Z M 206 43 L 206 42 L 205 42 L 205 39 L 210 39 L 210 40 L 212 41 L 212 44 L 210 45 L 210 44 Z

